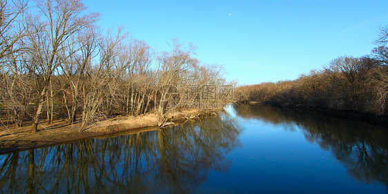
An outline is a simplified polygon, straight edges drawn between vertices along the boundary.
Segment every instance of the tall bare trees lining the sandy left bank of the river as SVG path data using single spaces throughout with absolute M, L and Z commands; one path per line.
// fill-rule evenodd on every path
M 151 111 L 166 122 L 168 110 L 201 98 L 184 96 L 189 86 L 228 84 L 193 44 L 172 39 L 157 52 L 122 28 L 104 32 L 80 0 L 0 0 L 0 16 L 0 126 L 30 120 L 36 131 L 42 118 L 85 126 Z

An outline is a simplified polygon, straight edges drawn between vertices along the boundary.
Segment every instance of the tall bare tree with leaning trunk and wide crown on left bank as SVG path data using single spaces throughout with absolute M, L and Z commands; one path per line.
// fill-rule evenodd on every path
M 69 41 L 70 37 L 77 35 L 77 32 L 88 28 L 88 26 L 93 26 L 98 17 L 97 13 L 86 13 L 86 6 L 80 0 L 39 0 L 35 2 L 43 16 L 43 21 L 40 21 L 43 30 L 39 35 L 30 37 L 34 48 L 31 53 L 31 66 L 35 68 L 35 74 L 41 80 L 32 132 L 37 130 L 45 97 L 48 98 L 46 92 L 52 90 L 50 83 L 53 72 L 72 55 L 72 53 L 69 55 L 59 54 L 63 54 L 63 51 L 74 43 Z M 74 50 L 74 52 L 78 52 L 80 49 Z M 50 99 L 52 99 L 52 95 L 50 95 Z

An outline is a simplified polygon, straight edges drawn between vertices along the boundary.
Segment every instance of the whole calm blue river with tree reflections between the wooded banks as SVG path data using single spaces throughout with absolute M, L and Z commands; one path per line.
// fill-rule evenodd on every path
M 148 128 L 0 155 L 2 193 L 387 193 L 387 128 L 238 104 Z

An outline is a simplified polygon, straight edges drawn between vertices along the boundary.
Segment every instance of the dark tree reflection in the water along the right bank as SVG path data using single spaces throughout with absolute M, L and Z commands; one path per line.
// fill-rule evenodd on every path
M 260 119 L 289 130 L 302 129 L 309 142 L 331 151 L 356 180 L 380 182 L 388 190 L 387 128 L 265 104 L 239 104 L 234 108 L 245 119 Z

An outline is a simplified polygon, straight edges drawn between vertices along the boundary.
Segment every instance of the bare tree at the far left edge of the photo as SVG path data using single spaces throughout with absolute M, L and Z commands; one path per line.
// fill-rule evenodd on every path
M 30 95 L 23 66 L 23 54 L 29 49 L 24 43 L 28 35 L 26 10 L 26 1 L 0 1 L 0 104 L 17 126 L 23 125 Z

